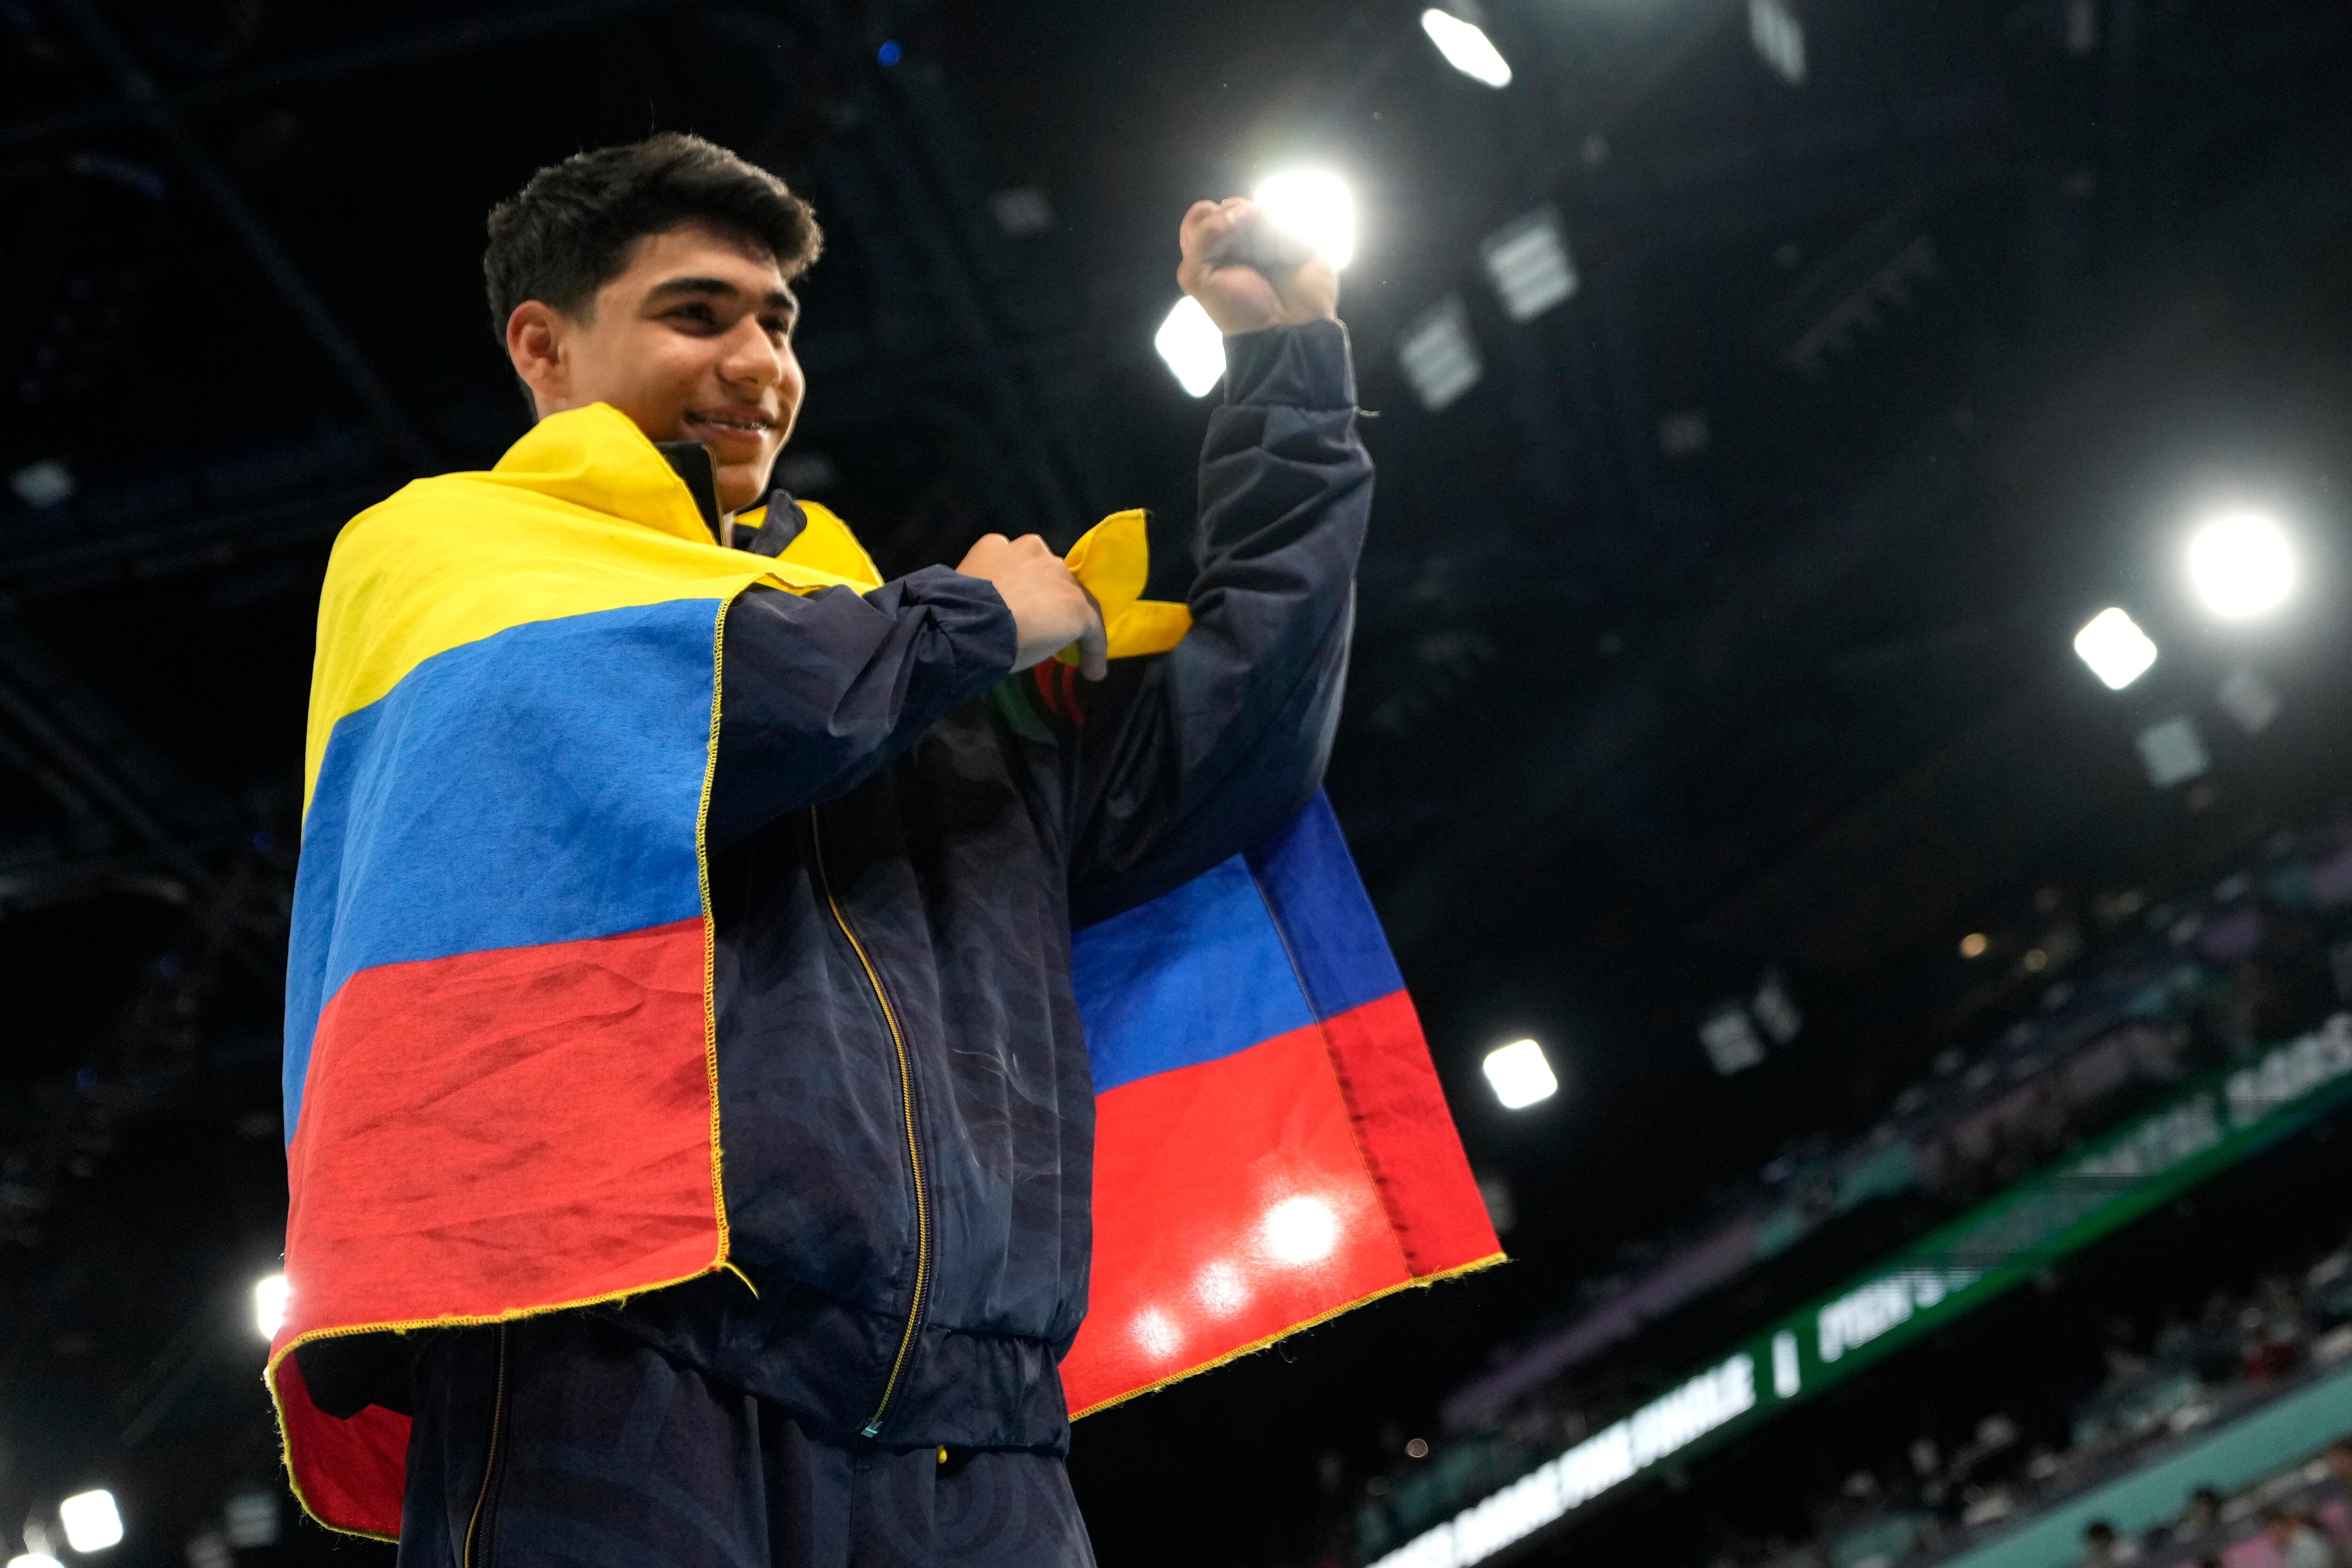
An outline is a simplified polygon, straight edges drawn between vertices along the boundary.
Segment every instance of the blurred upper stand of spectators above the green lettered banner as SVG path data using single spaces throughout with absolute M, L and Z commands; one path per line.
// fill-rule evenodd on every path
M 1442 1410 L 1465 1432 L 1882 1199 L 1957 1213 L 2161 1098 L 2352 1001 L 2352 823 L 2281 832 L 2201 896 L 2044 889 L 1987 940 L 1973 1046 L 1943 1051 L 1860 1135 L 1785 1150 L 1684 1232 L 1632 1248 L 1562 1321 Z M 2006 1011 L 2006 1025 L 2002 1023 Z

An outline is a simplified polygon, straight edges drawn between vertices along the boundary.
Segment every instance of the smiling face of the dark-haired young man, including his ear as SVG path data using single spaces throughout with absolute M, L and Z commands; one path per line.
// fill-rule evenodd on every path
M 760 503 L 800 414 L 797 315 L 767 249 L 689 223 L 637 240 L 588 310 L 515 306 L 506 353 L 541 418 L 609 402 L 656 442 L 710 447 L 736 512 Z

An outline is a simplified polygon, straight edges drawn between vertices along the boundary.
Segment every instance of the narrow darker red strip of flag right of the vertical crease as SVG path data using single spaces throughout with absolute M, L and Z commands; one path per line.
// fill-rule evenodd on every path
M 1414 999 L 1390 992 L 1331 1018 L 1324 1032 L 1364 1164 L 1414 1274 L 1444 1274 L 1503 1251 L 1454 1133 Z

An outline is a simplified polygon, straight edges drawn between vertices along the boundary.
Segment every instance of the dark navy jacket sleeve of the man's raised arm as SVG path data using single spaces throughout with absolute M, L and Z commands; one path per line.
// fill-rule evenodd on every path
M 1080 924 L 1155 898 L 1289 820 L 1322 785 L 1348 670 L 1371 456 L 1338 322 L 1225 341 L 1200 458 L 1192 630 L 1098 682 L 1054 682 L 1075 733 Z M 1063 701 L 1056 701 L 1063 698 Z

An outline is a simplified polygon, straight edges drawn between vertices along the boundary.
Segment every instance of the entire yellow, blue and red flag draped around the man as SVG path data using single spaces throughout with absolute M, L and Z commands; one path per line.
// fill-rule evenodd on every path
M 642 451 L 637 451 L 642 449 Z M 614 461 L 621 451 L 628 461 Z M 287 973 L 287 1321 L 303 1505 L 395 1535 L 407 1418 L 310 1403 L 299 1342 L 485 1324 L 727 1265 L 701 844 L 727 604 L 875 588 L 807 505 L 720 548 L 602 404 L 343 529 L 320 602 Z M 1141 515 L 1073 550 L 1112 656 L 1171 646 Z M 1075 1410 L 1496 1255 L 1329 809 L 1075 938 L 1098 1093 Z

